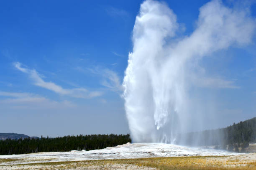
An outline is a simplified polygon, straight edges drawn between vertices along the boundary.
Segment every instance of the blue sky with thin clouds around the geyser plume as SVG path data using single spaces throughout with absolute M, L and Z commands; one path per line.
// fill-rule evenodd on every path
M 51 137 L 129 133 L 121 84 L 142 2 L 1 1 L 0 131 Z M 165 2 L 186 36 L 208 1 Z M 255 3 L 251 15 L 256 17 Z M 218 124 L 204 129 L 256 116 L 255 49 L 254 37 L 246 47 L 233 46 L 200 61 L 207 74 L 226 80 L 225 86 L 191 91 L 204 94 L 198 96 L 202 103 L 215 101 Z

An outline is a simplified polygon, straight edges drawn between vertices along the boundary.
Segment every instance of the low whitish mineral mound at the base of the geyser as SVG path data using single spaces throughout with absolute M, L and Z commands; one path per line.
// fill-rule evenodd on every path
M 56 162 L 74 160 L 102 160 L 125 159 L 142 157 L 178 157 L 178 156 L 212 156 L 212 155 L 238 155 L 238 153 L 223 150 L 184 147 L 163 143 L 127 143 L 116 147 L 107 147 L 101 150 L 71 151 L 71 152 L 41 152 L 23 155 L 0 155 L 0 159 L 25 159 L 28 162 Z M 54 160 L 50 160 L 50 159 Z M 22 162 L 22 163 L 28 163 Z M 20 162 L 17 162 L 20 163 Z M 7 165 L 5 162 L 0 165 Z M 12 162 L 13 164 L 13 162 Z

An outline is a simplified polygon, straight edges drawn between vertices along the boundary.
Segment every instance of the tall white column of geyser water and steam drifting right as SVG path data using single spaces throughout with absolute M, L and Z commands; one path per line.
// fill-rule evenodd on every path
M 247 10 L 213 0 L 200 8 L 190 36 L 177 37 L 179 27 L 165 3 L 146 0 L 141 4 L 123 80 L 133 142 L 172 143 L 193 114 L 188 89 L 197 71 L 189 63 L 232 45 L 250 43 L 256 23 Z

